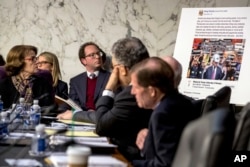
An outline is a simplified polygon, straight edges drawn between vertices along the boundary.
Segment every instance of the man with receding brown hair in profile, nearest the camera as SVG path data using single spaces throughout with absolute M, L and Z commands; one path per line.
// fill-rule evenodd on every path
M 138 106 L 154 110 L 142 149 L 145 159 L 134 160 L 132 165 L 170 167 L 181 133 L 195 117 L 193 104 L 178 92 L 172 68 L 159 57 L 135 65 L 131 85 Z

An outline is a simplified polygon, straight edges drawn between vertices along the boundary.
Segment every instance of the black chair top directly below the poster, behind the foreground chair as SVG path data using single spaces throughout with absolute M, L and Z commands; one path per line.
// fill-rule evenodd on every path
M 202 103 L 201 115 L 220 107 L 231 108 L 230 97 L 231 88 L 228 86 L 224 86 L 213 95 L 207 96 Z

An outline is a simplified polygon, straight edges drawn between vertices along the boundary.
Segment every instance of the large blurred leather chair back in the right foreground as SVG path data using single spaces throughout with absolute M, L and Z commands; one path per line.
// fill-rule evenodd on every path
M 235 117 L 228 108 L 190 122 L 184 129 L 172 167 L 224 167 L 230 164 Z

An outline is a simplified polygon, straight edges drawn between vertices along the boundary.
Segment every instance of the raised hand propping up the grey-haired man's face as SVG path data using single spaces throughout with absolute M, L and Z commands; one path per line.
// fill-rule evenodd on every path
M 105 89 L 115 91 L 119 87 L 119 68 L 115 67 L 109 77 Z

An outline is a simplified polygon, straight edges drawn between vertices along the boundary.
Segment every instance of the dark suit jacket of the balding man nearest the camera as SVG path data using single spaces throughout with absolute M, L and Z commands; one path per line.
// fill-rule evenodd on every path
M 168 93 L 153 111 L 143 154 L 145 160 L 134 160 L 134 167 L 170 167 L 181 133 L 195 118 L 191 101 L 177 91 Z

